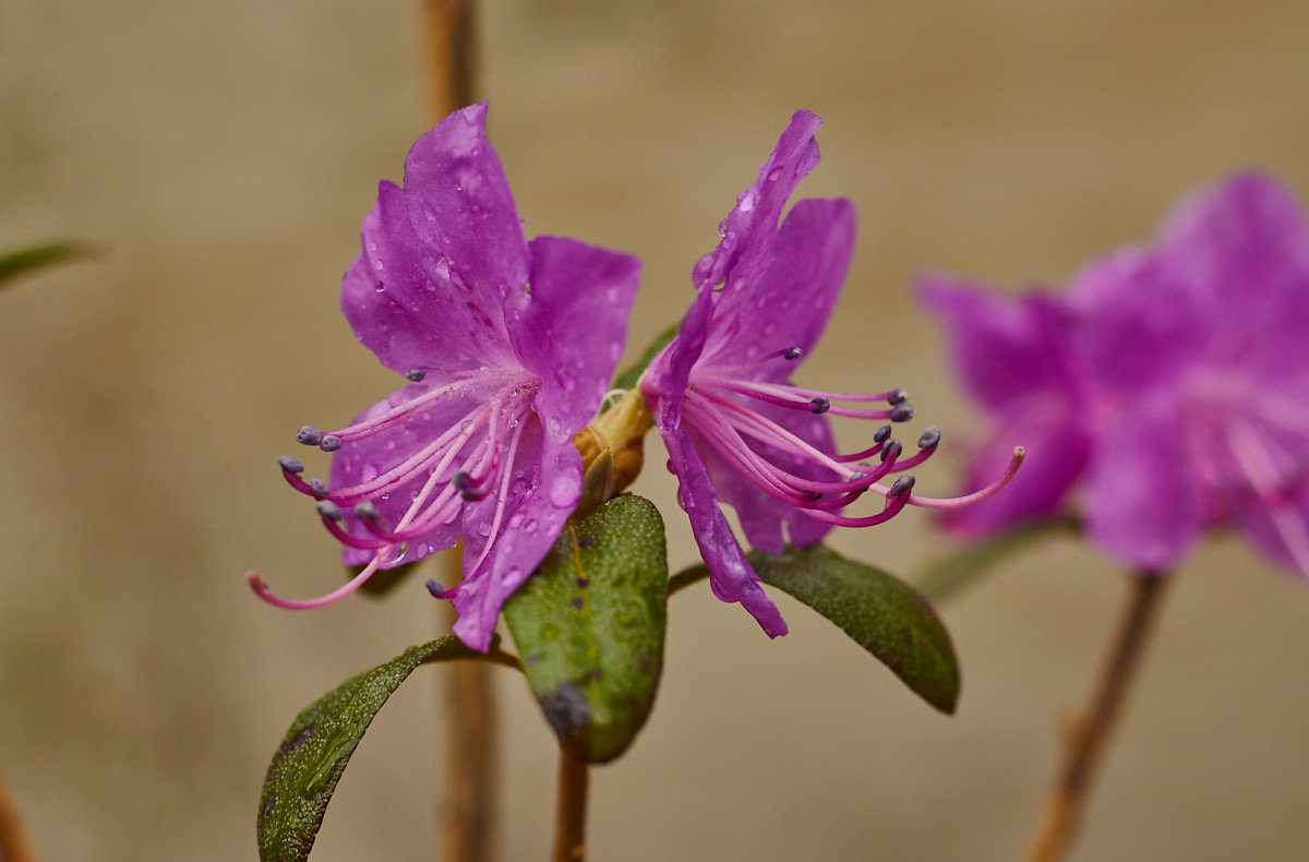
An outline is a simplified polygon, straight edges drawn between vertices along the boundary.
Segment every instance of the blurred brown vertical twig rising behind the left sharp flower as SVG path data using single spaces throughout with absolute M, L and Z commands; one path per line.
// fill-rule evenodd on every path
M 427 90 L 428 119 L 436 122 L 473 102 L 471 0 L 419 0 L 420 63 Z M 441 554 L 453 584 L 462 576 L 459 549 Z M 442 605 L 442 630 L 454 614 Z M 445 711 L 449 722 L 444 803 L 441 806 L 442 859 L 492 862 L 491 836 L 496 800 L 495 692 L 486 662 L 454 662 L 445 675 Z

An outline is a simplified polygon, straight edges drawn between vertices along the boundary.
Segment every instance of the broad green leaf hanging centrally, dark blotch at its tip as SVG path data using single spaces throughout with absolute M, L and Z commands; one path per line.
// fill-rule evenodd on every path
M 622 755 L 649 715 L 664 665 L 664 520 L 640 497 L 575 517 L 504 605 L 522 671 L 575 757 Z

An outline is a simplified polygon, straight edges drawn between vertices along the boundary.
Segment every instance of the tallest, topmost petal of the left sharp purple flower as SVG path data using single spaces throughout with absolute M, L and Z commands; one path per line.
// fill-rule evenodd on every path
M 404 191 L 414 231 L 444 255 L 454 296 L 490 309 L 526 303 L 529 257 L 486 111 L 456 111 L 419 138 L 404 160 Z

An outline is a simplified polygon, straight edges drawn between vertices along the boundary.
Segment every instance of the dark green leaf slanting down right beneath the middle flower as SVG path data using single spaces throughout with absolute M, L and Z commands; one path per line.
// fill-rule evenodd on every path
M 835 622 L 942 713 L 959 698 L 959 664 L 932 605 L 903 580 L 814 545 L 781 554 L 746 554 L 763 583 L 788 592 Z M 673 576 L 674 590 L 706 578 L 695 566 Z

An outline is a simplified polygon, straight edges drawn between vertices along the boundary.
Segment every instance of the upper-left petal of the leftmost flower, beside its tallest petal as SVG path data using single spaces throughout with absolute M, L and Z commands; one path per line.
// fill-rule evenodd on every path
M 364 219 L 364 252 L 340 295 L 355 337 L 399 373 L 514 367 L 504 300 L 470 290 L 441 250 L 419 238 L 407 202 L 414 194 L 382 182 Z

